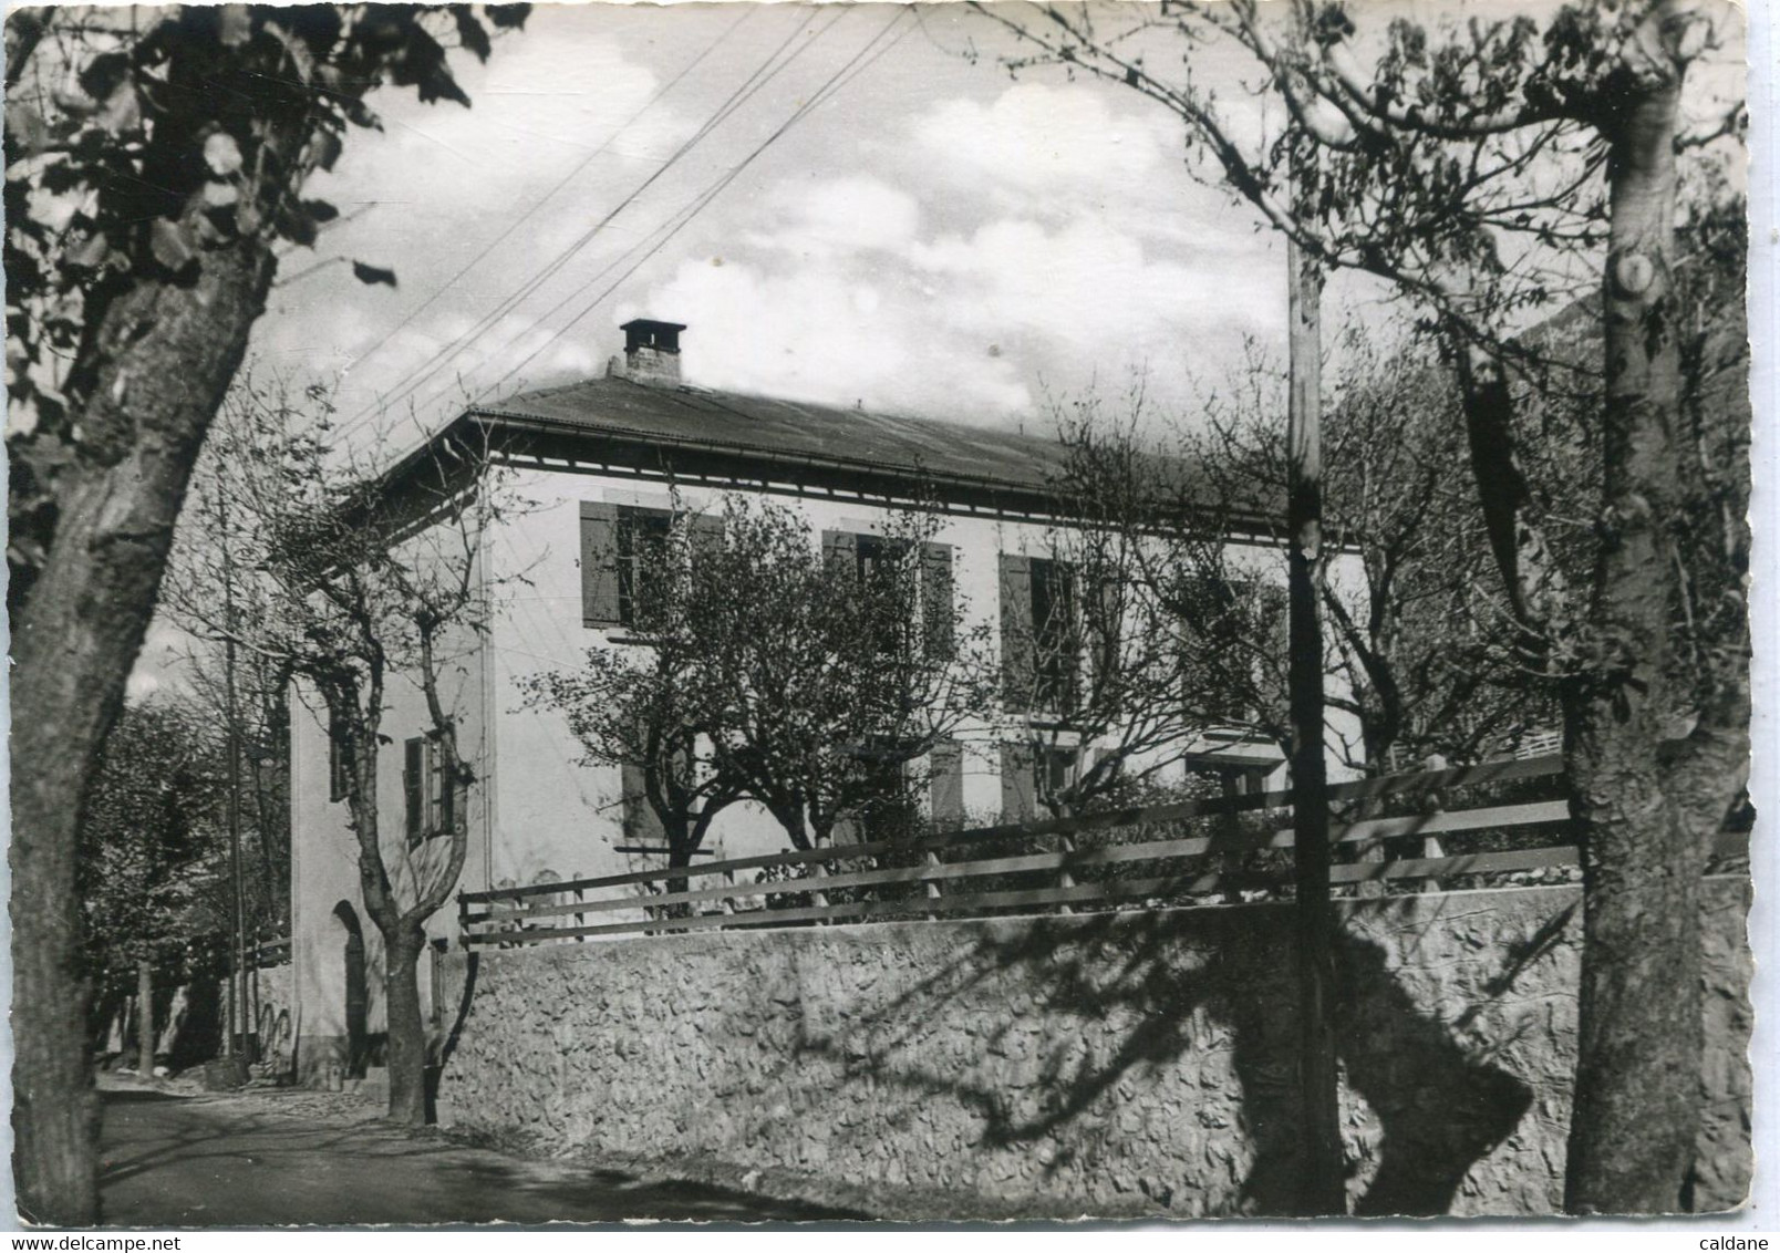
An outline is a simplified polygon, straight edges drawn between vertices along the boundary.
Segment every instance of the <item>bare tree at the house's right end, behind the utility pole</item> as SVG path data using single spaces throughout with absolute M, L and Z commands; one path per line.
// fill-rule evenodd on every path
M 1358 728 L 1337 744 L 1349 767 L 1367 772 L 1429 755 L 1477 760 L 1524 730 L 1549 726 L 1556 710 L 1541 698 L 1543 678 L 1511 655 L 1513 623 L 1502 598 L 1490 594 L 1483 525 L 1467 484 L 1452 477 L 1465 449 L 1451 377 L 1410 349 L 1385 356 L 1365 331 L 1344 336 L 1344 349 L 1324 424 L 1324 516 L 1335 552 L 1317 571 L 1330 623 L 1324 667 L 1340 678 L 1326 703 Z M 1253 509 L 1283 497 L 1283 432 L 1269 384 L 1276 376 L 1250 345 L 1246 368 L 1212 392 L 1202 425 L 1184 432 L 1202 502 Z M 1269 653 L 1278 644 L 1242 623 L 1230 634 Z M 1248 699 L 1266 708 L 1267 692 L 1276 705 L 1283 683 L 1276 667 L 1276 657 L 1257 657 L 1232 678 L 1262 675 Z

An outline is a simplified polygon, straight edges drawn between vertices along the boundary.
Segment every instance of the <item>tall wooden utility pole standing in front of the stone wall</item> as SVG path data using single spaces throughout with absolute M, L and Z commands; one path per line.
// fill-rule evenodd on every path
M 1314 189 L 1315 150 L 1299 139 L 1292 192 Z M 1330 904 L 1328 764 L 1323 733 L 1323 272 L 1296 242 L 1287 244 L 1287 360 L 1290 370 L 1285 443 L 1290 534 L 1287 557 L 1287 683 L 1292 723 L 1292 881 L 1298 938 L 1298 1086 L 1303 1100 L 1299 1210 L 1346 1214 L 1340 1096 L 1335 1071 L 1335 911 Z

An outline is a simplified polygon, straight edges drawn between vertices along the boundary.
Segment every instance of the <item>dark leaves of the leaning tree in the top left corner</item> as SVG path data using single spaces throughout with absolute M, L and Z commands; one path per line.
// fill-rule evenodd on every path
M 46 559 L 57 482 L 93 449 L 82 409 L 121 345 L 107 311 L 142 285 L 190 285 L 206 255 L 313 247 L 338 217 L 303 196 L 379 84 L 470 100 L 447 52 L 527 5 L 176 5 L 7 12 L 5 276 L 11 600 Z M 486 21 L 486 25 L 484 25 Z M 367 283 L 393 271 L 354 263 Z

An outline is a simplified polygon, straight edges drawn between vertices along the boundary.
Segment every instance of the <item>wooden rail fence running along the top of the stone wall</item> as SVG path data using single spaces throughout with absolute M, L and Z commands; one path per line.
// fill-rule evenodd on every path
M 1339 892 L 1554 883 L 1581 876 L 1565 842 L 1558 756 L 1335 783 Z M 1452 792 L 1477 796 L 1447 808 Z M 1406 847 L 1412 845 L 1412 847 Z M 975 828 L 920 838 L 465 892 L 472 947 L 680 931 L 1105 911 L 1290 893 L 1290 794 Z M 1716 856 L 1748 851 L 1727 833 Z M 1363 885 L 1383 885 L 1365 888 Z

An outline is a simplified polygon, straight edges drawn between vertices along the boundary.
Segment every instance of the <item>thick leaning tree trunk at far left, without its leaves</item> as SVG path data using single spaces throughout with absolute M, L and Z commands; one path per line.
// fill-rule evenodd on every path
M 144 283 L 96 336 L 82 459 L 12 637 L 12 1132 L 20 1212 L 98 1219 L 75 835 L 155 609 L 198 449 L 265 304 L 272 258 L 206 253 Z

